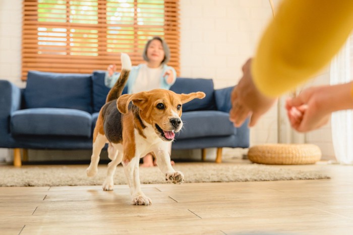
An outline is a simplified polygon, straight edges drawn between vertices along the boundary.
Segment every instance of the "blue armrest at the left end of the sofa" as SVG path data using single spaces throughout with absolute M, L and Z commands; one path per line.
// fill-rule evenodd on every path
M 0 147 L 12 147 L 10 116 L 21 108 L 21 89 L 13 83 L 0 80 Z

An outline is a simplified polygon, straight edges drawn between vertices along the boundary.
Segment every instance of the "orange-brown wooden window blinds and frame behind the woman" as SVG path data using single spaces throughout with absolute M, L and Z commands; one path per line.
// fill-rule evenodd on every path
M 128 27 L 124 24 L 109 24 L 108 21 L 108 6 L 109 1 L 112 0 L 56 0 L 61 3 L 66 2 L 66 22 L 41 22 L 42 19 L 40 13 L 38 13 L 38 6 L 40 0 L 24 0 L 23 1 L 23 33 L 22 33 L 22 74 L 21 79 L 25 81 L 27 79 L 27 73 L 29 70 L 39 70 L 48 72 L 64 72 L 64 73 L 92 73 L 94 70 L 106 70 L 108 64 L 116 64 L 117 69 L 121 69 L 120 52 L 126 52 L 130 55 L 133 65 L 143 63 L 142 51 L 144 44 L 153 36 L 161 36 L 170 48 L 170 61 L 168 65 L 174 67 L 179 74 L 180 71 L 180 20 L 179 20 L 179 0 L 165 0 L 163 2 L 164 10 L 164 24 L 163 25 L 140 25 L 137 21 L 138 11 L 142 9 L 148 9 L 150 3 L 144 3 L 145 8 L 138 8 L 142 6 L 146 0 L 128 0 L 130 3 L 134 3 L 134 22 L 129 27 L 133 27 L 133 46 L 130 45 L 130 51 L 123 51 L 123 47 L 117 47 L 117 50 L 110 50 L 108 47 L 109 43 L 109 30 L 111 27 Z M 75 2 L 97 2 L 97 24 L 82 24 L 70 22 L 72 19 L 71 6 Z M 153 11 L 153 8 L 151 8 Z M 140 12 L 141 12 L 140 11 Z M 79 15 L 79 14 L 77 14 Z M 41 46 L 41 38 L 45 38 L 45 33 L 40 35 L 39 29 L 53 29 L 53 27 L 66 29 L 66 50 L 62 50 L 60 46 L 49 47 L 46 45 Z M 96 47 L 96 55 L 78 55 L 80 53 L 74 53 L 74 50 L 84 50 L 89 46 L 80 49 L 80 46 L 75 45 L 75 41 L 72 37 L 74 35 L 72 30 L 86 30 L 91 32 L 96 30 L 96 42 L 92 44 L 98 44 Z M 152 29 L 152 30 L 151 30 Z M 154 30 L 153 30 L 154 29 Z M 158 29 L 157 31 L 155 29 Z M 50 32 L 50 31 L 47 31 Z M 159 34 L 156 34 L 158 33 Z M 160 35 L 162 32 L 162 35 Z M 82 33 L 83 34 L 83 33 Z M 88 33 L 87 33 L 88 34 Z M 94 34 L 94 33 L 93 33 Z M 43 36 L 44 35 L 44 36 Z M 53 34 L 51 34 L 53 35 Z M 87 35 L 86 35 L 87 36 Z M 50 38 L 50 33 L 47 33 L 47 38 Z M 54 36 L 52 39 L 58 40 L 60 36 Z M 63 36 L 64 38 L 64 36 Z M 78 40 L 83 40 L 83 36 L 78 37 Z M 46 39 L 44 39 L 46 40 Z M 93 40 L 94 41 L 94 40 Z M 48 40 L 50 42 L 50 40 Z M 72 43 L 73 42 L 73 43 Z M 48 43 L 47 43 L 48 44 Z M 55 44 L 55 43 L 54 43 Z M 72 44 L 72 45 L 71 45 Z M 89 44 L 89 43 L 88 43 Z M 76 43 L 79 45 L 79 43 Z M 122 46 L 123 43 L 117 43 L 116 45 Z M 43 50 L 46 48 L 47 51 Z M 56 53 L 56 49 L 62 52 L 62 54 Z M 119 48 L 122 48 L 119 51 Z M 60 50 L 61 49 L 61 50 Z M 111 49 L 111 48 L 110 48 Z M 66 52 L 64 52 L 66 51 Z

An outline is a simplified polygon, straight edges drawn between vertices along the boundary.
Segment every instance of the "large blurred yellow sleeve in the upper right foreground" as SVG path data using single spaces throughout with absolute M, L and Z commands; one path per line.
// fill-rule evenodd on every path
M 256 88 L 277 97 L 325 66 L 353 28 L 353 1 L 284 1 L 253 58 Z

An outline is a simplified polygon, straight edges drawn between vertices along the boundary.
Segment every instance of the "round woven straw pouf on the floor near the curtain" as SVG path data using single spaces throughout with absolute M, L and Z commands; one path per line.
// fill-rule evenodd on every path
M 271 165 L 314 164 L 321 150 L 314 144 L 261 144 L 249 148 L 248 158 L 254 163 Z

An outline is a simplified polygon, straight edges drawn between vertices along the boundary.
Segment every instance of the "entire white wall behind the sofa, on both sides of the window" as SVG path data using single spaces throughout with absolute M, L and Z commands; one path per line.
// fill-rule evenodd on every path
M 274 1 L 278 6 L 279 0 Z M 241 67 L 256 49 L 272 18 L 268 0 L 180 0 L 181 76 L 214 80 L 215 88 L 236 85 Z M 0 0 L 0 79 L 20 87 L 22 0 Z M 323 72 L 312 83 L 329 81 Z M 283 120 L 282 120 L 283 121 Z M 251 144 L 277 142 L 277 106 L 251 129 Z M 305 136 L 333 157 L 330 126 Z M 7 150 L 0 149 L 0 156 Z

